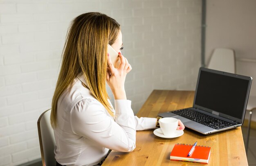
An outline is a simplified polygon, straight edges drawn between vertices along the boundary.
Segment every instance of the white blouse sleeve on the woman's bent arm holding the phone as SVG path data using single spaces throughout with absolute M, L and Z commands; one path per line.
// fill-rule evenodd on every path
M 97 100 L 83 99 L 70 112 L 72 131 L 115 151 L 135 149 L 136 129 L 130 100 L 115 100 L 115 121 Z

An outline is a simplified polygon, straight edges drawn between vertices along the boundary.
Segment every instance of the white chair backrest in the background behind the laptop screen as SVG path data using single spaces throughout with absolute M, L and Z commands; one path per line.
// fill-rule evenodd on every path
M 207 68 L 236 73 L 236 57 L 234 50 L 228 48 L 214 49 Z

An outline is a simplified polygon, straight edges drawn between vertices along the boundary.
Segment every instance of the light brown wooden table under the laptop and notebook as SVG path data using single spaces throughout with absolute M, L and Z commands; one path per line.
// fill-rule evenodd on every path
M 154 90 L 138 117 L 157 117 L 160 112 L 191 107 L 194 91 Z M 136 149 L 130 153 L 112 151 L 102 166 L 191 166 L 200 163 L 170 160 L 170 153 L 177 143 L 207 145 L 211 147 L 209 166 L 247 166 L 247 158 L 241 128 L 212 135 L 201 135 L 190 129 L 178 138 L 165 139 L 153 134 L 153 130 L 137 131 Z

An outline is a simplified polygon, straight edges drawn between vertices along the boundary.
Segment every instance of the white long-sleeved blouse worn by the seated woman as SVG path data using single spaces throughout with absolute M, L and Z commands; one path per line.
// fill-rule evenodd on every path
M 78 79 L 79 78 L 79 79 Z M 130 100 L 115 100 L 115 120 L 90 91 L 82 74 L 58 99 L 54 129 L 56 161 L 66 166 L 94 166 L 109 149 L 135 149 L 136 130 L 155 128 L 155 118 L 134 116 Z

